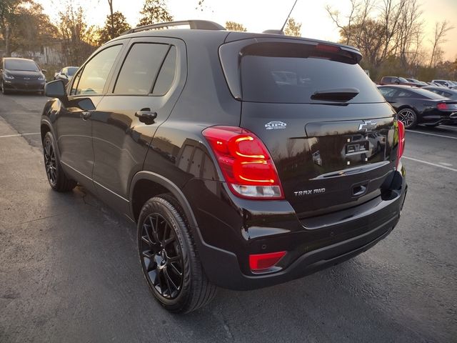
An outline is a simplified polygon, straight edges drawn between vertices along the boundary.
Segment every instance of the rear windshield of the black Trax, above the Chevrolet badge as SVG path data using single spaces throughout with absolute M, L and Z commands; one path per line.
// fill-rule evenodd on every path
M 357 89 L 347 103 L 384 102 L 373 81 L 344 54 L 316 54 L 314 46 L 259 43 L 241 51 L 243 101 L 322 103 L 315 92 Z

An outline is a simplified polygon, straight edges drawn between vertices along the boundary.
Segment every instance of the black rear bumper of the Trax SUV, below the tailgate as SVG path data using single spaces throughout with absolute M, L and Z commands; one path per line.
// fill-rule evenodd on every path
M 194 238 L 206 275 L 219 287 L 248 290 L 298 279 L 346 261 L 373 247 L 396 226 L 406 197 L 404 174 L 396 172 L 393 187 L 383 199 L 301 221 L 293 210 L 293 214 L 288 213 L 287 206 L 278 204 L 283 202 L 276 202 L 276 211 L 258 212 L 247 208 L 246 202 L 241 202 L 243 207 L 234 204 L 231 194 L 219 189 L 216 192 L 222 201 L 214 199 L 212 204 L 220 214 L 214 215 L 209 202 L 208 210 L 193 209 L 199 224 L 194 228 Z M 199 198 L 206 196 L 200 192 Z M 254 207 L 258 204 L 252 203 Z M 262 207 L 265 205 L 263 202 Z M 231 212 L 229 207 L 236 211 Z M 278 251 L 287 251 L 276 264 L 278 268 L 263 274 L 251 272 L 249 254 Z

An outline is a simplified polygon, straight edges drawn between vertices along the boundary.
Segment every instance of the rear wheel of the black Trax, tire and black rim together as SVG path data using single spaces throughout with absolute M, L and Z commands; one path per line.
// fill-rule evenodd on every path
M 141 269 L 157 301 L 189 313 L 211 302 L 216 286 L 204 273 L 179 203 L 169 194 L 149 199 L 138 221 Z

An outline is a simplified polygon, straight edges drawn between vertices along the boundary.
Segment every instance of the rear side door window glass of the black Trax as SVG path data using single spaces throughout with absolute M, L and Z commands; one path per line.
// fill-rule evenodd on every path
M 116 94 L 149 94 L 169 45 L 134 44 L 116 81 Z

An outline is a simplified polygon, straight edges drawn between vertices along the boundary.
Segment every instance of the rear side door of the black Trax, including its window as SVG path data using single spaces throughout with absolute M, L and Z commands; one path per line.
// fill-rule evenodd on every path
M 168 118 L 185 77 L 178 39 L 131 39 L 109 93 L 92 116 L 94 183 L 106 202 L 127 211 L 130 180 L 141 171 L 156 129 Z M 182 86 L 182 84 L 181 84 Z

